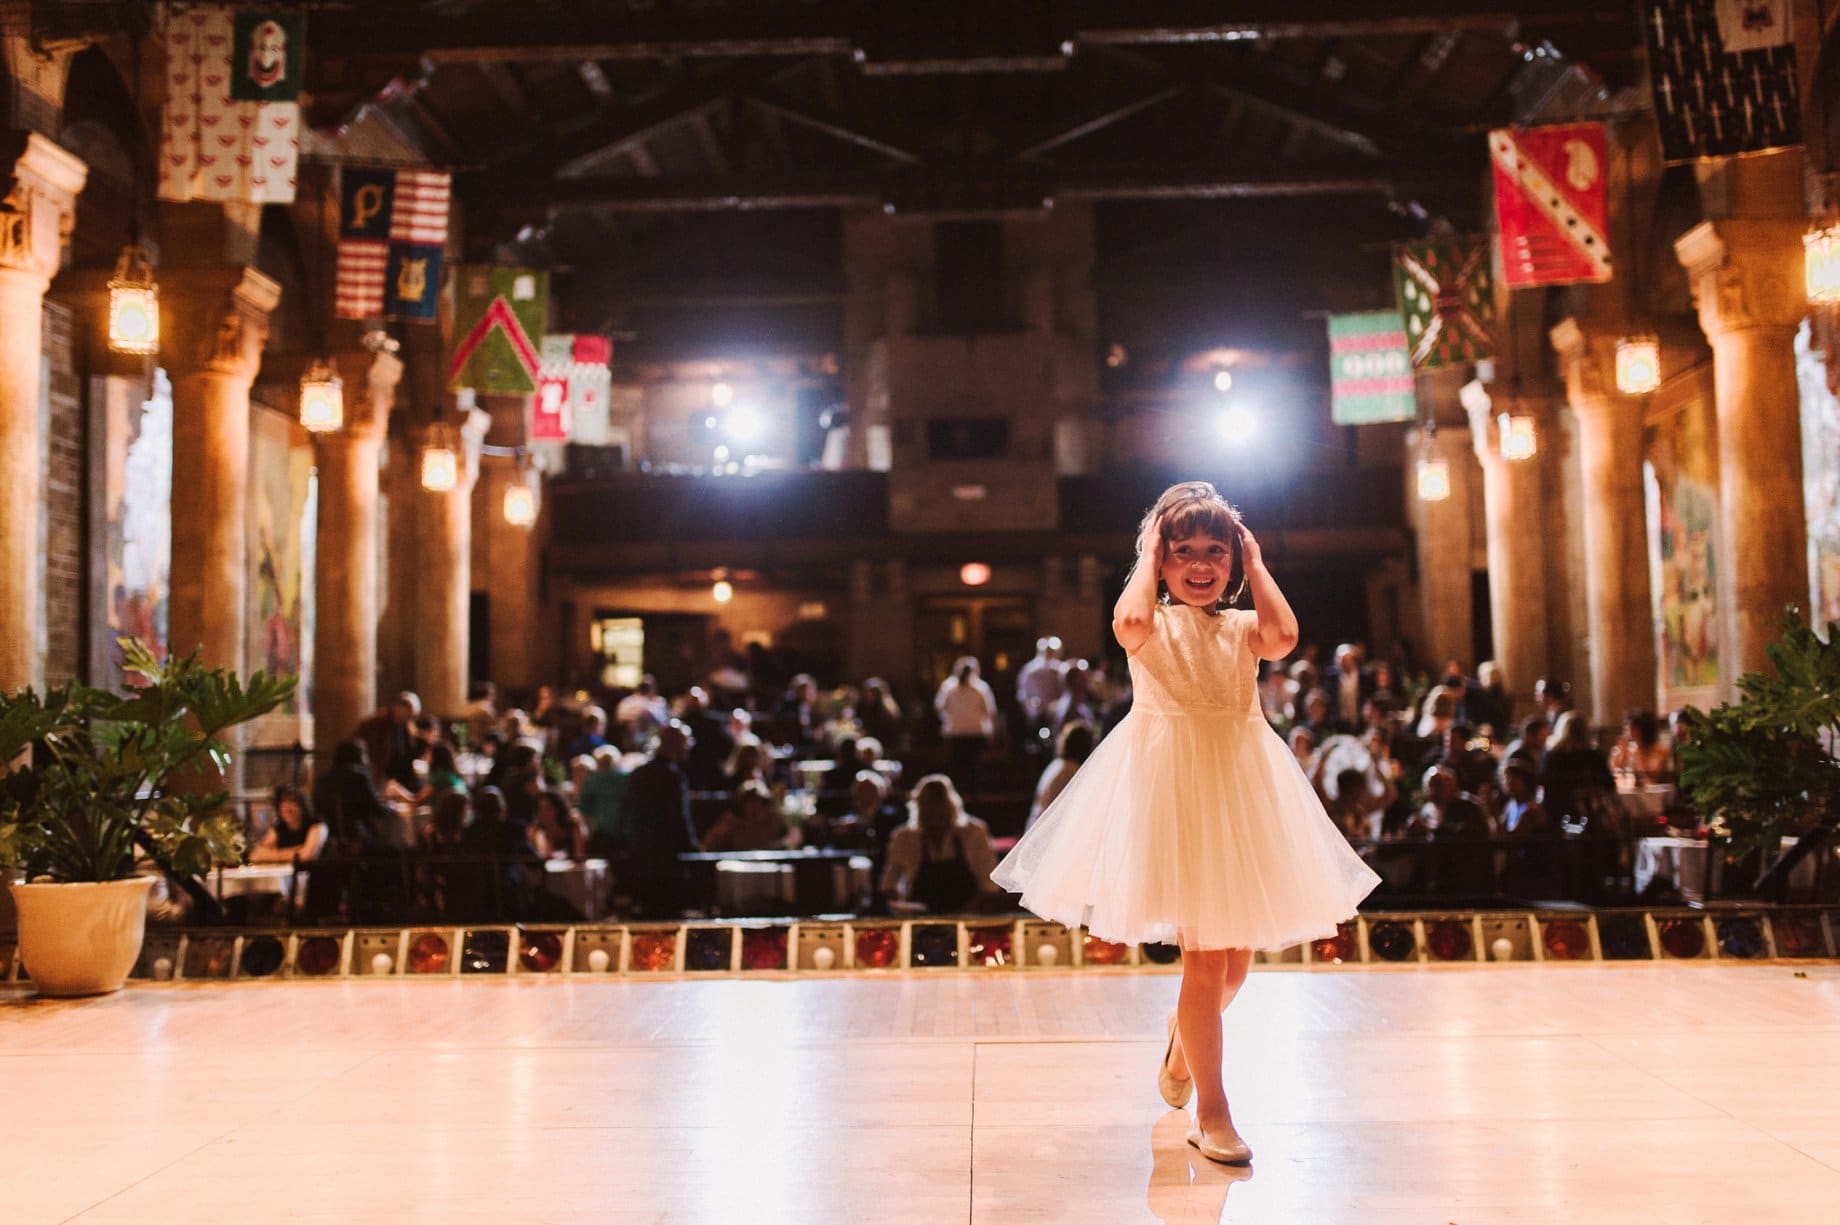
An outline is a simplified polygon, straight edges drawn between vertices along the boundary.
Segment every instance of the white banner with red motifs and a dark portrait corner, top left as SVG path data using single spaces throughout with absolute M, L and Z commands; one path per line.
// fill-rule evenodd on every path
M 164 9 L 162 200 L 289 204 L 300 162 L 300 13 Z

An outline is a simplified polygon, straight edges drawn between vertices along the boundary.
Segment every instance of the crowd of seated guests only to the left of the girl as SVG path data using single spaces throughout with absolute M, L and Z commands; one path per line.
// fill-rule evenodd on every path
M 296 918 L 311 922 L 567 918 L 541 896 L 543 861 L 604 861 L 626 918 L 708 907 L 696 852 L 861 853 L 903 907 L 957 905 L 940 864 L 988 874 L 988 831 L 955 789 L 918 806 L 898 791 L 909 716 L 881 679 L 826 693 L 802 673 L 738 706 L 714 693 L 732 688 L 664 693 L 646 677 L 602 704 L 541 686 L 526 710 L 484 684 L 445 725 L 399 693 L 333 747 L 311 802 L 276 796 L 250 857 L 305 866 Z M 810 758 L 822 769 L 800 769 Z M 944 842 L 918 839 L 920 809 Z

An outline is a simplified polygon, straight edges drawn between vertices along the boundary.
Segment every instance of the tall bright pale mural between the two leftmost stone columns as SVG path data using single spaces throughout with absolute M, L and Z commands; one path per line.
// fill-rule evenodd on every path
M 138 403 L 116 383 L 103 416 L 103 570 L 107 578 L 107 660 L 98 684 L 121 688 L 121 636 L 144 638 L 166 655 L 173 572 L 173 384 L 153 375 L 151 399 Z

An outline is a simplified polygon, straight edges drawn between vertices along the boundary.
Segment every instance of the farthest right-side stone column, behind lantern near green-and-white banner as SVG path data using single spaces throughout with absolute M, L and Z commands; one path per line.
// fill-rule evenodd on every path
M 1419 498 L 1411 464 L 1408 464 L 1408 506 L 1415 515 L 1415 544 L 1419 567 L 1419 620 L 1422 640 L 1419 655 L 1433 668 L 1446 658 L 1468 660 L 1472 651 L 1474 605 L 1470 598 L 1470 570 L 1474 568 L 1474 537 L 1470 532 L 1470 500 L 1474 497 L 1474 469 L 1468 430 L 1461 425 L 1463 408 L 1457 390 L 1463 370 L 1439 370 L 1419 379 L 1419 397 L 1432 421 L 1437 421 L 1437 454 L 1450 462 L 1450 497 L 1443 502 Z M 1411 460 L 1424 454 L 1424 443 L 1409 449 Z

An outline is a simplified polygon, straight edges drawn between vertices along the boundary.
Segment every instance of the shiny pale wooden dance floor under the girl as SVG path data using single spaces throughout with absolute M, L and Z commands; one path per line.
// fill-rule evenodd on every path
M 1163 973 L 0 988 L 0 1219 L 1840 1221 L 1840 966 L 1259 969 L 1251 1170 Z

